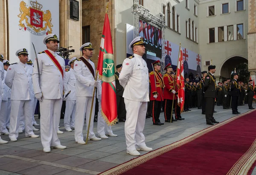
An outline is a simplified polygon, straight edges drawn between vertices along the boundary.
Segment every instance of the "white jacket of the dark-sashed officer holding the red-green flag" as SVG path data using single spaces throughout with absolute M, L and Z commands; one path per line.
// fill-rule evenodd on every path
M 86 58 L 84 58 L 87 60 Z M 95 66 L 91 60 L 87 60 L 93 67 L 95 76 Z M 94 81 L 93 75 L 87 66 L 82 62 L 76 60 L 74 63 L 74 71 L 76 75 L 76 97 L 92 97 L 93 96 L 93 86 L 90 86 L 90 82 Z M 101 81 L 98 80 L 98 83 Z

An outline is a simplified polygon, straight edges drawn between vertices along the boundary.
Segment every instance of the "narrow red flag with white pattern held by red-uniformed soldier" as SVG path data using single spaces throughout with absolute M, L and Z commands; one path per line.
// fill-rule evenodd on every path
M 184 109 L 185 100 L 185 86 L 184 86 L 184 71 L 183 71 L 183 53 L 180 49 L 180 57 L 177 65 L 177 86 L 178 86 L 178 106 L 180 106 L 180 112 Z

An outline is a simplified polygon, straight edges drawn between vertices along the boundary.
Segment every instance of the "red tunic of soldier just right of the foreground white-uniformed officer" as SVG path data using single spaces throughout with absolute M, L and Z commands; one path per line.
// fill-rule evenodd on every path
M 150 72 L 149 80 L 151 84 L 150 100 L 163 101 L 164 83 L 161 73 L 157 70 Z M 157 94 L 157 98 L 154 98 L 155 94 Z

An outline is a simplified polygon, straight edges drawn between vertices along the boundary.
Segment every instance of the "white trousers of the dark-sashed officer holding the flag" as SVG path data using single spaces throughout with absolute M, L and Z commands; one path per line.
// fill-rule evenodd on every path
M 76 141 L 83 141 L 83 127 L 84 127 L 84 115 L 86 113 L 86 130 L 89 124 L 90 108 L 92 104 L 92 97 L 76 97 L 76 118 L 75 118 L 75 139 Z M 90 121 L 90 129 L 88 138 L 95 138 L 93 132 L 93 118 L 95 113 L 95 98 L 93 100 L 93 110 Z

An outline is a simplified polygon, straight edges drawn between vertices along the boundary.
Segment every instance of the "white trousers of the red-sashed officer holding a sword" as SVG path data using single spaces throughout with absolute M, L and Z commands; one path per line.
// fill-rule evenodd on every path
M 40 131 L 44 148 L 61 144 L 57 136 L 61 119 L 62 99 L 43 99 L 40 101 Z

